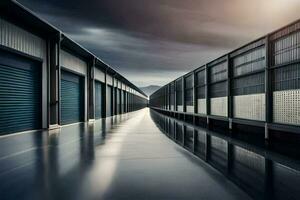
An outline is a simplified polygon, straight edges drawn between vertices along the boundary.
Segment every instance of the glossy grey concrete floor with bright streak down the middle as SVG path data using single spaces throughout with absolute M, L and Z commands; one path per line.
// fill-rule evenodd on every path
M 168 139 L 149 109 L 0 138 L 0 199 L 250 199 Z

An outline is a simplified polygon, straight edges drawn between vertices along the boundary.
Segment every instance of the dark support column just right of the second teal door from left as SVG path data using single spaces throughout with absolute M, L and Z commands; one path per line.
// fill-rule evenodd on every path
M 95 65 L 96 65 L 96 58 L 92 58 L 91 62 L 89 63 L 89 73 L 88 73 L 88 113 L 89 113 L 89 121 L 95 120 Z

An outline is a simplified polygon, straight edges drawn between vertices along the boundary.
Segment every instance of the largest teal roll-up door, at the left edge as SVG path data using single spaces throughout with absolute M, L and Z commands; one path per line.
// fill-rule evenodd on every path
M 0 51 L 0 135 L 42 127 L 41 64 Z

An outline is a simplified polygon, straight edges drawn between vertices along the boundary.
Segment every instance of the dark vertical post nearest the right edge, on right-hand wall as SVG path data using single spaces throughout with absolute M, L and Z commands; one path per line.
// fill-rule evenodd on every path
M 273 115 L 273 91 L 272 91 L 272 76 L 271 76 L 271 42 L 269 39 L 269 35 L 266 37 L 266 68 L 265 68 L 265 101 L 266 101 L 266 123 L 265 123 L 265 139 L 269 139 L 269 124 L 272 123 L 272 115 Z

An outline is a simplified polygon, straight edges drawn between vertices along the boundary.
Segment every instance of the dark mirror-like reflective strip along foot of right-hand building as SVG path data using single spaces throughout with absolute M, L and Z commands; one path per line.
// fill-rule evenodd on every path
M 173 141 L 223 173 L 255 199 L 299 199 L 300 162 L 233 135 L 218 134 L 151 112 L 152 119 Z M 245 138 L 243 138 L 245 139 Z M 299 152 L 298 152 L 299 153 Z

